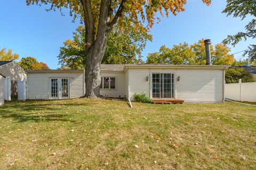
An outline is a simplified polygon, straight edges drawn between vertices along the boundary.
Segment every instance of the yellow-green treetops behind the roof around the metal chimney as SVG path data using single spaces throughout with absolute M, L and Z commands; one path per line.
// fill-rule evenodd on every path
M 229 54 L 230 48 L 223 44 L 211 45 L 211 58 L 214 65 L 229 65 L 234 62 L 234 55 Z M 206 64 L 204 39 L 198 43 L 173 45 L 168 48 L 165 45 L 159 48 L 159 52 L 149 53 L 147 63 L 169 64 Z

